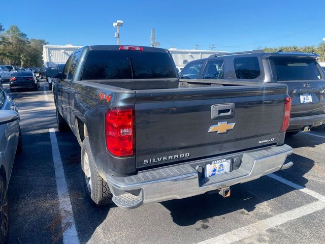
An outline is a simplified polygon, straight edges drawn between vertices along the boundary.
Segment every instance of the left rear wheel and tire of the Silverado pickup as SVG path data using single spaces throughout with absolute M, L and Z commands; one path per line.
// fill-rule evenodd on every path
M 87 160 L 88 164 L 85 164 Z M 83 140 L 81 146 L 81 166 L 83 171 L 82 178 L 87 197 L 91 199 L 92 203 L 96 206 L 110 204 L 112 202 L 113 194 L 109 189 L 107 182 L 102 178 L 96 168 L 91 154 L 88 137 Z

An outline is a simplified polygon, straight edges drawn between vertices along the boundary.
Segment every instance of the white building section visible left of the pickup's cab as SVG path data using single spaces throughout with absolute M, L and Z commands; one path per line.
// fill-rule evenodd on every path
M 82 46 L 67 45 L 43 45 L 43 61 L 45 67 L 54 67 L 55 64 L 67 62 L 70 54 Z

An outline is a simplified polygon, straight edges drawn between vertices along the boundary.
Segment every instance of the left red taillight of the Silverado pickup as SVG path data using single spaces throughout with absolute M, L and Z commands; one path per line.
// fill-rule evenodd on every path
M 115 156 L 134 155 L 135 114 L 133 108 L 112 108 L 106 111 L 106 147 Z

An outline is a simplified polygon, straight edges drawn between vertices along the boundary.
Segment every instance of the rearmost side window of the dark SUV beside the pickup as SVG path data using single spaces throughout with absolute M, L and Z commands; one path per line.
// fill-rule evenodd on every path
M 257 57 L 235 57 L 234 67 L 238 79 L 255 79 L 261 74 Z

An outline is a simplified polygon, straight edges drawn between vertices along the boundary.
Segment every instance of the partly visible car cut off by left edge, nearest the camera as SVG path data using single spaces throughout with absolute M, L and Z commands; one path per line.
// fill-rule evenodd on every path
M 19 114 L 14 102 L 0 89 L 0 243 L 8 239 L 8 185 L 15 154 L 22 150 Z

